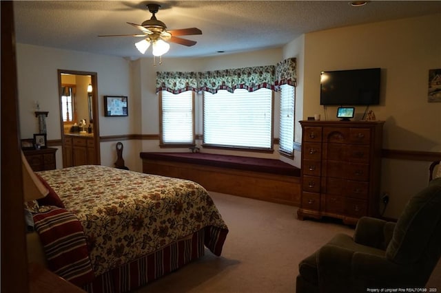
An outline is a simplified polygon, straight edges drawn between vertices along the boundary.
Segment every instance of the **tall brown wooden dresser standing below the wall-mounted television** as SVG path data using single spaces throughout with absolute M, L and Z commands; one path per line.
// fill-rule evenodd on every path
M 300 121 L 298 219 L 378 217 L 383 121 Z

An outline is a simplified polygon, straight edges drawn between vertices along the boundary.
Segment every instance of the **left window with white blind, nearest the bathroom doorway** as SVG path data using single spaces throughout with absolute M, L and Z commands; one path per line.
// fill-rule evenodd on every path
M 194 144 L 194 93 L 160 91 L 161 144 Z

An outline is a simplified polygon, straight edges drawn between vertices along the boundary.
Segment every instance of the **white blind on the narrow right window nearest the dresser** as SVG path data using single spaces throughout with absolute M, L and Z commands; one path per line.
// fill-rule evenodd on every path
M 280 89 L 279 151 L 292 155 L 294 142 L 294 87 L 282 85 Z

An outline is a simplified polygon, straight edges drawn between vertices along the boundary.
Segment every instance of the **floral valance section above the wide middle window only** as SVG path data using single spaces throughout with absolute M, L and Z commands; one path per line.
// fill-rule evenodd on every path
M 258 66 L 238 69 L 215 70 L 199 73 L 199 91 L 216 94 L 219 89 L 234 92 L 235 89 L 256 91 L 267 88 L 274 90 L 276 67 Z

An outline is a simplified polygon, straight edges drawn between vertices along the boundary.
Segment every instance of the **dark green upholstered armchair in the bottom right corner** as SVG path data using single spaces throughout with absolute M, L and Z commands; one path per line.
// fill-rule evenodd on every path
M 397 223 L 362 217 L 299 264 L 296 292 L 422 288 L 441 255 L 441 178 L 413 196 Z

